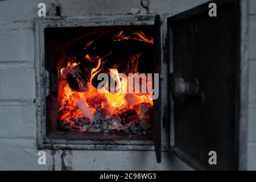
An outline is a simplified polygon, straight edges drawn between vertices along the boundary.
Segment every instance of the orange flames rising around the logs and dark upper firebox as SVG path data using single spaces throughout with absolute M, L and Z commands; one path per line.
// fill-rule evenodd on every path
M 115 36 L 113 36 L 113 41 L 120 41 L 125 39 L 134 39 L 139 40 L 143 42 L 147 42 L 150 44 L 153 44 L 152 38 L 147 38 L 146 35 L 143 34 L 143 32 L 133 32 L 131 35 L 125 35 L 123 31 L 118 32 Z M 84 49 L 90 44 L 92 44 L 93 41 L 87 43 L 84 46 Z M 111 52 L 110 52 L 111 53 Z M 109 55 L 110 55 L 109 53 Z M 138 59 L 139 56 L 141 56 L 141 53 L 138 53 L 137 55 L 132 55 L 131 57 L 128 57 L 127 60 L 129 61 L 128 69 L 131 73 L 138 73 Z M 105 56 L 106 57 L 106 56 Z M 104 57 L 97 58 L 97 65 L 95 68 L 92 68 L 91 71 L 91 78 L 90 81 L 92 81 L 92 78 L 97 75 L 100 71 L 102 71 L 102 63 Z M 85 59 L 88 61 L 91 61 L 91 57 L 89 54 L 85 55 Z M 71 61 L 68 62 L 66 67 L 63 67 L 60 69 L 60 73 L 62 77 L 65 77 L 67 73 L 75 68 L 79 63 L 72 63 Z M 109 68 L 110 69 L 110 68 Z M 94 116 L 94 112 L 96 111 L 97 107 L 104 108 L 108 111 L 109 114 L 117 114 L 119 110 L 125 109 L 125 108 L 133 108 L 136 105 L 139 105 L 141 103 L 147 103 L 150 105 L 153 105 L 153 101 L 148 99 L 148 95 L 152 93 L 146 93 L 146 94 L 127 94 L 127 87 L 129 85 L 129 77 L 122 78 L 119 76 L 118 69 L 113 68 L 112 69 L 112 76 L 114 77 L 114 80 L 117 84 L 117 91 L 116 93 L 110 93 L 108 90 L 104 89 L 104 93 L 99 93 L 96 88 L 92 85 L 91 82 L 88 82 L 88 90 L 85 92 L 74 92 L 69 88 L 69 85 L 67 81 L 65 80 L 59 80 L 59 91 L 58 91 L 58 97 L 60 97 L 60 107 L 59 107 L 59 118 L 61 120 L 65 120 L 67 122 L 70 122 L 72 124 L 72 119 L 75 118 L 90 118 L 86 114 L 86 112 L 82 112 L 81 108 L 79 108 L 79 104 L 77 104 L 78 101 L 85 102 L 85 106 L 89 107 L 90 115 Z M 62 81 L 65 81 L 61 83 Z M 146 84 L 152 84 L 152 81 L 147 81 Z M 63 85 L 61 87 L 61 85 Z M 137 108 L 137 113 L 139 113 L 139 109 Z

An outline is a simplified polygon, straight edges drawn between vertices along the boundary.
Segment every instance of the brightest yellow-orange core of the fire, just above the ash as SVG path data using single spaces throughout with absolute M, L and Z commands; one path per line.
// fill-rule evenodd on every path
M 92 69 L 92 78 L 94 75 L 96 75 L 98 72 L 101 71 L 98 70 L 100 67 L 100 59 L 98 60 L 98 64 L 96 68 Z M 61 69 L 62 70 L 62 69 Z M 62 73 L 61 73 L 62 74 Z M 73 92 L 71 88 L 69 88 L 68 83 L 64 86 L 64 98 L 61 100 L 61 105 L 67 105 L 66 109 L 69 110 L 68 113 L 65 113 L 61 116 L 61 119 L 69 119 L 73 116 L 75 117 L 86 117 L 86 115 L 83 115 L 79 109 L 75 109 L 77 106 L 77 101 L 80 98 L 84 98 L 86 105 L 90 105 L 90 98 L 98 98 L 101 100 L 100 105 L 103 108 L 104 105 L 106 105 L 106 102 L 108 102 L 108 105 L 111 106 L 112 110 L 116 110 L 118 108 L 126 108 L 126 107 L 133 107 L 133 105 L 129 104 L 127 102 L 127 85 L 129 78 L 122 80 L 118 75 L 118 70 L 114 69 L 114 77 L 115 80 L 118 83 L 118 92 L 117 93 L 111 93 L 108 90 L 104 88 L 104 93 L 98 93 L 98 90 L 94 88 L 92 84 L 89 83 L 89 89 L 87 92 L 81 93 L 81 92 Z M 92 79 L 91 78 L 91 79 Z M 128 94 L 129 95 L 129 94 Z M 135 98 L 133 100 L 136 100 L 136 104 L 141 104 L 143 102 L 153 105 L 153 101 L 147 98 L 148 94 L 133 94 Z M 91 114 L 93 115 L 96 107 L 90 107 Z M 72 113 L 72 114 L 71 114 Z M 78 115 L 77 115 L 78 114 Z

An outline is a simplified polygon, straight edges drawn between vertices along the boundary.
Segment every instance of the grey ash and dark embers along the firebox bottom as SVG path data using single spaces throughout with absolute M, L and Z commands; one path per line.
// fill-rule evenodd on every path
M 102 107 L 97 107 L 94 118 L 76 118 L 70 121 L 59 120 L 60 130 L 66 132 L 87 132 L 87 133 L 115 133 L 130 137 L 142 136 L 152 129 L 151 114 L 152 106 L 147 104 L 139 105 L 143 115 L 137 114 L 135 109 L 124 109 L 117 114 L 109 115 Z

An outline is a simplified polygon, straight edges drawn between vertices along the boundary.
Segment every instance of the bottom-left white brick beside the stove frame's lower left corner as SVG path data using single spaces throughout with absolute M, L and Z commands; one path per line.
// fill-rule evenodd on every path
M 46 151 L 46 165 L 38 164 L 35 140 L 0 138 L 0 170 L 49 170 L 52 167 L 51 151 Z

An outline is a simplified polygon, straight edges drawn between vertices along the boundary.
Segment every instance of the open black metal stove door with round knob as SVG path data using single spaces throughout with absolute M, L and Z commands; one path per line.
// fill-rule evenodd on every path
M 246 1 L 168 18 L 173 151 L 195 169 L 246 168 Z

